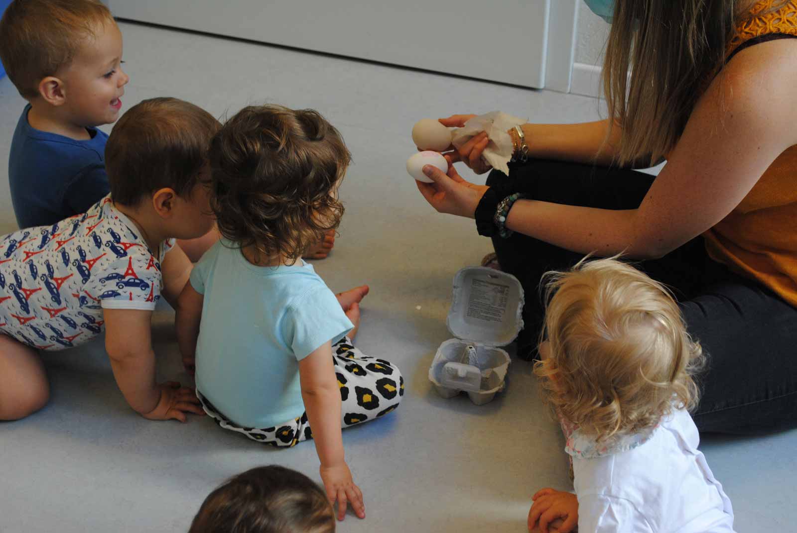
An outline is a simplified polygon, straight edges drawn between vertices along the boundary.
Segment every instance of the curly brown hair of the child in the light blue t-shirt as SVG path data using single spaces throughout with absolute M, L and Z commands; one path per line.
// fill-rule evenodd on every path
M 210 142 L 210 206 L 218 230 L 258 259 L 296 261 L 344 214 L 337 187 L 349 153 L 319 112 L 249 106 Z

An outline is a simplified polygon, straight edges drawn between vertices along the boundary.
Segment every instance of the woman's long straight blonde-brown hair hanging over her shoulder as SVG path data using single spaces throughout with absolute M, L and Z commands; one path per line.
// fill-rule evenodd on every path
M 768 0 L 757 14 L 787 2 Z M 724 64 L 736 25 L 759 3 L 767 2 L 617 0 L 603 92 L 612 127 L 622 127 L 619 165 L 652 166 L 672 150 L 697 100 Z

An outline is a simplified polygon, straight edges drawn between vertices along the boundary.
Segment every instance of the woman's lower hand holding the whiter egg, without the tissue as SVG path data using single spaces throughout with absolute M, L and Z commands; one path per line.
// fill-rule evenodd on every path
M 426 165 L 423 173 L 433 179 L 433 183 L 418 182 L 418 190 L 426 198 L 438 213 L 455 214 L 460 217 L 473 218 L 476 206 L 479 205 L 481 197 L 489 189 L 485 185 L 474 185 L 466 182 L 457 174 L 451 164 L 451 155 L 446 154 L 446 161 L 449 163 L 448 174 L 443 174 L 438 167 Z

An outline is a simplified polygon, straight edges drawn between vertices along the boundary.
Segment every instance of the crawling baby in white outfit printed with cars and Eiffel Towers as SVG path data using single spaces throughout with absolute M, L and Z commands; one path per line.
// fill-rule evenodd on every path
M 134 410 L 153 420 L 202 413 L 193 390 L 155 383 L 150 319 L 161 296 L 176 302 L 190 273 L 174 238 L 214 223 L 200 174 L 218 127 L 182 100 L 135 105 L 108 139 L 111 194 L 84 214 L 0 237 L 0 420 L 47 402 L 37 350 L 79 346 L 103 330 Z

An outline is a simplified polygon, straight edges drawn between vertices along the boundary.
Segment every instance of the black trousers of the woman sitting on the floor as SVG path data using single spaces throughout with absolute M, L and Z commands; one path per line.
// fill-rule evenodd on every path
M 654 180 L 635 170 L 546 160 L 514 165 L 510 178 L 526 198 L 611 210 L 637 208 Z M 493 170 L 487 183 L 505 179 Z M 544 315 L 540 276 L 570 268 L 583 256 L 519 233 L 493 237 L 493 246 L 501 269 L 516 276 L 526 293 L 518 354 L 536 354 Z M 702 432 L 753 434 L 797 426 L 797 308 L 711 260 L 702 237 L 636 266 L 673 290 L 689 333 L 707 355 L 693 413 Z

